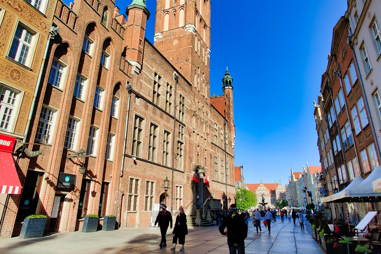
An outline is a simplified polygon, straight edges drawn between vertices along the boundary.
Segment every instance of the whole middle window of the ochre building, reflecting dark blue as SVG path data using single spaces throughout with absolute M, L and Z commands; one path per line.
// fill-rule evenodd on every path
M 34 37 L 33 32 L 28 31 L 21 25 L 17 25 L 8 57 L 20 64 L 29 66 L 34 53 L 32 52 Z

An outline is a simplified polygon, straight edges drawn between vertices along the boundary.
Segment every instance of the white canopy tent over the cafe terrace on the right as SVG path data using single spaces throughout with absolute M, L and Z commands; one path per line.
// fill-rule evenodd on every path
M 364 180 L 362 177 L 355 177 L 344 190 L 321 198 L 321 202 L 348 202 L 360 201 L 362 198 L 381 198 L 381 193 L 373 191 L 373 182 L 381 178 L 381 166 L 377 166 L 372 173 Z

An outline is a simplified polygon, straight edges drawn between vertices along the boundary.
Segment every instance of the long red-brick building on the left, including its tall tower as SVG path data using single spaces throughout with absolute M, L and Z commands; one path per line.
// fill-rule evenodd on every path
M 141 227 L 154 203 L 191 212 L 209 195 L 215 209 L 234 199 L 233 78 L 226 70 L 223 95 L 209 96 L 210 1 L 157 0 L 154 45 L 145 1 L 126 13 L 111 0 L 58 1 L 25 147 L 43 153 L 19 158 L 24 188 L 1 237 L 34 213 L 47 231 L 71 232 L 86 214 Z

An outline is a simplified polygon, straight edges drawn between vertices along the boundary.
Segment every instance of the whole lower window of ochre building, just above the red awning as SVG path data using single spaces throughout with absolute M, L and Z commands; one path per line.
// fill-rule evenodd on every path
M 0 129 L 10 130 L 14 122 L 18 93 L 0 85 Z

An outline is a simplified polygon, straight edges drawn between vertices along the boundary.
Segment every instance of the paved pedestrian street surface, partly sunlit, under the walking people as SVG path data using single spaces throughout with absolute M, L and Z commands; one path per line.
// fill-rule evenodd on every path
M 299 223 L 297 223 L 299 224 Z M 263 225 L 263 223 L 261 224 Z M 307 223 L 306 228 L 311 227 Z M 159 228 L 130 228 L 95 233 L 57 233 L 43 238 L 22 240 L 18 238 L 0 240 L 1 254 L 228 254 L 227 238 L 217 226 L 189 230 L 185 252 L 172 252 L 172 230 L 167 232 L 167 247 L 160 249 Z M 271 223 L 271 234 L 262 227 L 256 233 L 249 221 L 248 238 L 245 240 L 246 254 L 324 254 L 310 233 L 299 225 L 285 220 Z

